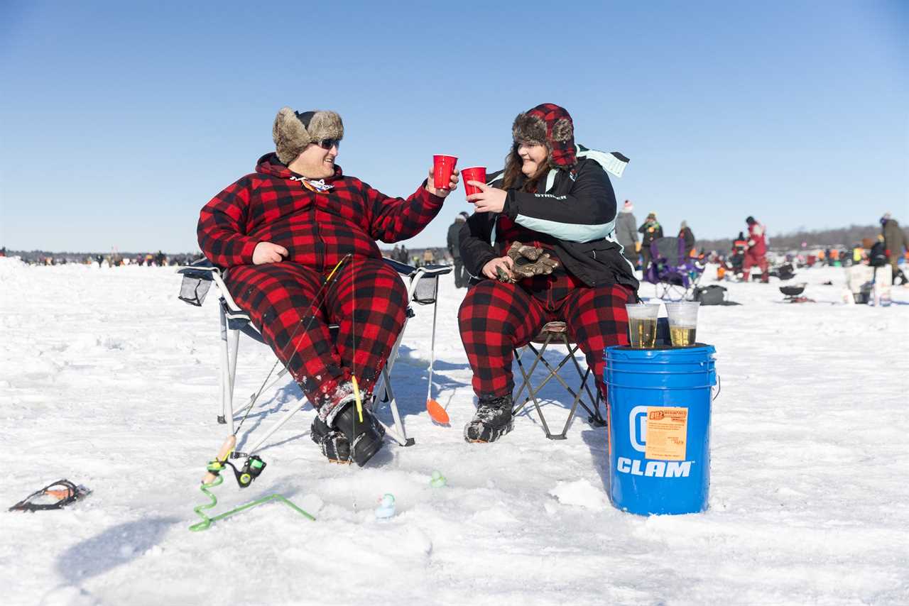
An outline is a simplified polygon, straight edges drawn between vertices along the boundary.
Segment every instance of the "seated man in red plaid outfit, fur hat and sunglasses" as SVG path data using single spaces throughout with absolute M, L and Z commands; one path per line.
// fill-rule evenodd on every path
M 199 246 L 225 269 L 236 303 L 318 410 L 313 440 L 329 460 L 363 465 L 384 430 L 368 410 L 362 420 L 355 412 L 354 378 L 362 392 L 372 390 L 407 306 L 375 241 L 420 233 L 458 177 L 436 187 L 430 170 L 403 199 L 345 175 L 335 164 L 344 137 L 335 112 L 284 107 L 272 134 L 276 151 L 259 158 L 255 173 L 205 204 Z M 335 340 L 330 323 L 340 325 Z

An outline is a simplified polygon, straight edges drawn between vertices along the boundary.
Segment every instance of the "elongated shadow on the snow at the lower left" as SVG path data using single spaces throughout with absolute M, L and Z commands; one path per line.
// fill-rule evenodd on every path
M 77 584 L 141 557 L 155 547 L 179 518 L 144 518 L 112 526 L 60 554 L 57 572 Z

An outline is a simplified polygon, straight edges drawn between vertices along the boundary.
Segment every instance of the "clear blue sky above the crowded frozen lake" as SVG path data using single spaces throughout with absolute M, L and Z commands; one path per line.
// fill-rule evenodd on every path
M 0 2 L 0 245 L 195 251 L 285 104 L 340 113 L 386 194 L 434 153 L 500 167 L 553 102 L 671 233 L 909 224 L 907 41 L 906 2 Z

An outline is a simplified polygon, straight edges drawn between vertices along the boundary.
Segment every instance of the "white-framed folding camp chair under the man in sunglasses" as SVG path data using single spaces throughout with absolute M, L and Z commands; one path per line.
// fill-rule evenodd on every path
M 420 268 L 412 267 L 405 263 L 399 263 L 391 259 L 384 259 L 385 263 L 390 265 L 395 271 L 402 276 L 407 287 L 407 301 L 413 303 L 419 303 L 421 305 L 433 305 L 433 330 L 435 332 L 435 301 L 438 294 L 438 284 L 439 276 L 444 275 L 445 273 L 450 273 L 452 268 L 447 265 L 425 265 Z M 221 355 L 220 355 L 220 382 L 221 382 L 221 414 L 218 415 L 217 421 L 219 423 L 227 424 L 230 432 L 233 433 L 234 429 L 234 417 L 237 414 L 242 414 L 247 408 L 252 406 L 255 402 L 255 393 L 250 395 L 246 403 L 239 407 L 234 407 L 234 386 L 236 379 L 236 358 L 237 351 L 240 344 L 240 333 L 244 333 L 246 336 L 254 339 L 258 343 L 265 343 L 262 334 L 259 333 L 258 329 L 252 323 L 250 316 L 243 309 L 237 305 L 227 291 L 227 287 L 224 283 L 224 275 L 218 267 L 215 267 L 209 261 L 203 259 L 199 262 L 193 263 L 188 267 L 183 267 L 177 271 L 184 276 L 183 283 L 180 289 L 180 299 L 186 303 L 193 305 L 201 305 L 205 299 L 205 293 L 207 293 L 209 287 L 212 283 L 218 288 L 218 307 L 220 310 L 220 332 L 221 332 Z M 398 442 L 402 446 L 411 446 L 414 444 L 413 438 L 408 438 L 405 431 L 404 423 L 401 421 L 401 415 L 397 409 L 397 402 L 395 401 L 395 392 L 392 389 L 391 383 L 391 372 L 392 368 L 395 365 L 395 359 L 397 357 L 398 347 L 401 344 L 401 340 L 404 337 L 405 327 L 407 321 L 414 317 L 415 313 L 411 305 L 407 306 L 405 313 L 405 326 L 401 328 L 401 332 L 398 333 L 397 340 L 395 341 L 395 346 L 392 348 L 391 353 L 388 356 L 388 360 L 385 362 L 385 366 L 382 369 L 382 374 L 379 377 L 378 381 L 375 383 L 373 390 L 374 402 L 377 402 L 374 406 L 374 411 L 378 408 L 381 408 L 381 404 L 387 403 L 392 412 L 392 418 L 394 422 L 394 428 L 386 425 L 382 422 L 385 427 L 385 432 L 392 437 L 395 442 Z M 336 325 L 330 325 L 329 331 L 333 335 L 337 332 L 338 327 Z M 435 336 L 435 335 L 434 335 Z M 276 382 L 280 381 L 287 369 L 282 367 L 280 373 L 277 373 L 275 379 L 268 383 L 260 392 L 265 392 L 265 390 L 270 389 Z M 234 457 L 245 456 L 246 453 L 255 452 L 269 437 L 272 436 L 278 429 L 280 429 L 285 422 L 289 421 L 294 414 L 301 410 L 305 406 L 305 399 L 301 399 L 298 405 L 293 407 L 291 410 L 285 412 L 275 424 L 269 429 L 268 432 L 258 439 L 252 446 L 245 448 L 246 452 L 235 452 Z

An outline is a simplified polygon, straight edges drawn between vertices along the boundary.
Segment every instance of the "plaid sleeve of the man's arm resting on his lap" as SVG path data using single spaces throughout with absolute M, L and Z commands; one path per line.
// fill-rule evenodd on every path
M 199 247 L 215 265 L 253 264 L 253 251 L 258 242 L 244 233 L 252 191 L 249 177 L 244 177 L 202 207 L 196 226 Z

